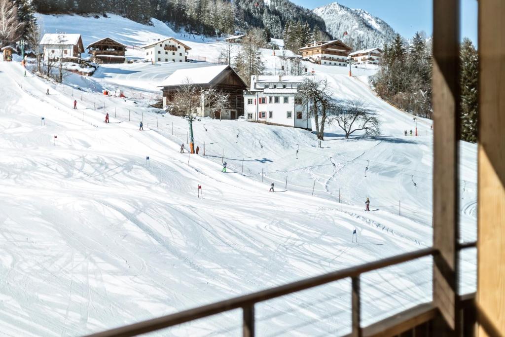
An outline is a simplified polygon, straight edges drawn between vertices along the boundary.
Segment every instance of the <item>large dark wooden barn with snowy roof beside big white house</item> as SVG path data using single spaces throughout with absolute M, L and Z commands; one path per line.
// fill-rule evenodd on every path
M 237 119 L 244 114 L 243 90 L 247 84 L 237 75 L 229 65 L 179 69 L 170 75 L 163 87 L 163 108 L 174 99 L 177 90 L 186 83 L 192 83 L 205 90 L 215 88 L 229 94 L 228 108 L 222 111 L 211 111 L 205 96 L 201 95 L 200 107 L 196 115 L 201 117 L 213 116 L 220 119 Z

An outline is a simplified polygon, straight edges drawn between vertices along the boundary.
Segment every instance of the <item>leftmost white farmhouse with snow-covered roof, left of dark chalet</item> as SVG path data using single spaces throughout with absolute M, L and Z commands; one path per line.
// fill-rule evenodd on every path
M 45 62 L 58 62 L 62 59 L 80 59 L 84 52 L 81 34 L 44 34 L 40 40 Z

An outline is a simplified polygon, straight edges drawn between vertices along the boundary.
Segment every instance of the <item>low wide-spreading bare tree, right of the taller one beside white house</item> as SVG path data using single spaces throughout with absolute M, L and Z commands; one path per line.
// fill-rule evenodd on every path
M 356 131 L 363 130 L 366 135 L 380 134 L 380 121 L 375 117 L 375 111 L 361 101 L 347 100 L 336 103 L 330 107 L 330 110 L 333 119 L 345 132 L 345 138 Z

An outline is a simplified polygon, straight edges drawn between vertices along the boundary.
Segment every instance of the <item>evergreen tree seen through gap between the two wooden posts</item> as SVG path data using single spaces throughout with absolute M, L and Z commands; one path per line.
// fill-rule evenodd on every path
M 461 44 L 461 138 L 477 141 L 477 78 L 479 58 L 477 50 L 468 38 Z

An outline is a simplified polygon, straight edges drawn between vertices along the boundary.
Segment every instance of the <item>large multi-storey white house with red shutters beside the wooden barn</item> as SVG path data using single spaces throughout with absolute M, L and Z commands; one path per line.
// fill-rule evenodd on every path
M 251 76 L 244 91 L 244 118 L 248 121 L 312 129 L 309 108 L 297 98 L 305 76 Z

